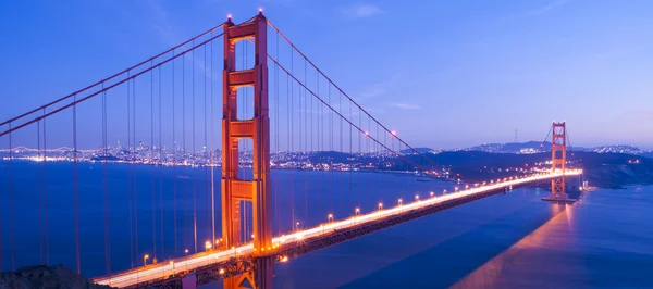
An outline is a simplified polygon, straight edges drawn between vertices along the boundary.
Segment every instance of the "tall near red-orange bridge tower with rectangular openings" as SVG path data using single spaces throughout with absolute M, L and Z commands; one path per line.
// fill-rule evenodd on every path
M 268 115 L 267 20 L 259 13 L 254 21 L 235 26 L 231 18 L 224 32 L 223 116 L 222 116 L 222 241 L 226 248 L 246 241 L 241 238 L 241 201 L 251 202 L 255 269 L 224 280 L 225 289 L 272 288 L 272 208 L 270 201 L 270 117 Z M 254 40 L 255 65 L 236 71 L 236 42 Z M 238 88 L 254 87 L 254 117 L 238 120 Z M 238 140 L 251 139 L 254 178 L 238 176 Z M 264 250 L 268 249 L 268 250 Z

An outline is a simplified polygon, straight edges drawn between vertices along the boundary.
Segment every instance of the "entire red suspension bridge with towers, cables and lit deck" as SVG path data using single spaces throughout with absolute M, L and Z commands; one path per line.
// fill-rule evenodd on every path
M 366 111 L 262 12 L 239 24 L 230 16 L 178 46 L 0 124 L 0 139 L 8 143 L 0 153 L 10 176 L 3 188 L 9 200 L 0 208 L 10 215 L 10 227 L 0 230 L 10 235 L 0 236 L 0 241 L 10 239 L 10 255 L 0 255 L 0 268 L 2 260 L 11 260 L 8 267 L 15 269 L 16 259 L 28 254 L 16 250 L 14 233 L 15 197 L 24 193 L 17 189 L 16 165 L 24 160 L 38 165 L 34 212 L 41 264 L 49 264 L 56 250 L 50 244 L 52 210 L 72 209 L 66 224 L 74 227 L 74 267 L 84 273 L 83 248 L 90 244 L 83 243 L 85 208 L 79 204 L 85 193 L 94 193 L 95 208 L 87 216 L 103 218 L 102 248 L 93 244 L 103 257 L 86 260 L 104 261 L 104 273 L 95 282 L 187 289 L 222 281 L 224 288 L 271 288 L 275 263 L 514 188 L 550 181 L 547 200 L 570 201 L 565 179 L 582 171 L 566 167 L 566 124 L 554 122 L 550 133 L 550 168 L 442 193 L 404 191 L 392 200 L 373 196 L 350 185 L 355 174 L 362 174 L 355 171 L 434 177 L 441 166 Z M 127 142 L 110 146 L 109 139 L 116 138 Z M 59 161 L 73 164 L 66 185 L 58 184 L 72 203 L 56 203 L 49 194 L 54 186 L 48 174 Z M 101 172 L 95 178 L 85 175 L 85 163 L 100 164 Z M 111 171 L 113 163 L 125 172 Z M 170 186 L 164 167 L 195 173 Z M 280 184 L 271 168 L 333 174 L 329 188 L 318 188 L 295 181 L 294 173 L 291 181 Z M 116 178 L 125 184 L 114 185 Z M 101 184 L 101 192 L 85 190 L 89 179 Z M 126 201 L 116 204 L 111 200 L 119 193 L 126 193 Z M 379 201 L 364 203 L 361 193 Z M 113 221 L 116 210 L 127 216 Z M 209 213 L 199 214 L 202 210 Z M 111 238 L 116 231 L 126 233 L 128 246 Z M 115 255 L 128 255 L 128 261 L 116 264 Z

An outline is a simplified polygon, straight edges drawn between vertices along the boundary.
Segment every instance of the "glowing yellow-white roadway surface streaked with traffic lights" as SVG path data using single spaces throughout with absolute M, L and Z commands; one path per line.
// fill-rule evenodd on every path
M 566 176 L 575 176 L 582 174 L 580 169 L 567 169 Z M 401 200 L 398 204 L 393 208 L 384 209 L 382 205 L 379 210 L 367 214 L 359 214 L 346 219 L 337 219 L 321 224 L 319 226 L 295 231 L 288 235 L 274 237 L 272 243 L 275 248 L 279 247 L 292 247 L 293 243 L 301 242 L 306 239 L 316 239 L 322 235 L 329 235 L 334 230 L 348 229 L 356 226 L 361 226 L 367 223 L 374 223 L 375 221 L 406 214 L 408 212 L 423 210 L 428 206 L 438 205 L 440 203 L 452 201 L 456 199 L 464 199 L 472 194 L 483 193 L 496 189 L 506 187 L 523 186 L 529 183 L 535 183 L 540 180 L 549 180 L 555 177 L 560 177 L 563 174 L 556 173 L 540 173 L 527 177 L 505 179 L 503 181 L 492 183 L 489 185 L 481 185 L 459 191 L 449 192 L 447 194 L 430 194 L 430 196 L 416 196 L 412 202 L 408 203 L 408 200 Z M 274 249 L 272 249 L 274 250 Z M 251 243 L 235 247 L 229 250 L 222 251 L 207 251 L 184 257 L 174 260 L 168 260 L 158 264 L 151 264 L 130 271 L 114 273 L 108 276 L 101 276 L 94 278 L 93 280 L 97 284 L 109 285 L 112 287 L 130 287 L 140 282 L 151 281 L 155 279 L 161 279 L 170 275 L 175 275 L 181 272 L 193 271 L 200 266 L 207 266 L 210 264 L 225 263 L 232 257 L 248 256 L 254 253 L 254 246 Z

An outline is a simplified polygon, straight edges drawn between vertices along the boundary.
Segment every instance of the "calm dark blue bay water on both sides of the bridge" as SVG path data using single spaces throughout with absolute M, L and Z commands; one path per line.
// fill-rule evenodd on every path
M 12 269 L 12 185 L 15 266 L 40 263 L 47 208 L 44 261 L 75 267 L 73 176 L 72 163 L 0 162 L 2 269 Z M 212 238 L 208 168 L 79 163 L 77 177 L 86 276 L 106 273 L 104 192 L 112 272 L 143 264 L 144 254 L 164 260 L 193 252 L 194 208 L 198 250 Z M 375 173 L 273 171 L 272 178 L 275 235 L 296 222 L 325 222 L 331 212 L 349 216 L 357 206 L 369 212 L 379 202 L 394 205 L 455 186 Z M 214 179 L 219 204 L 219 169 Z M 39 191 L 47 194 L 40 226 Z M 653 187 L 594 190 L 572 205 L 540 201 L 546 194 L 515 190 L 294 259 L 275 266 L 275 288 L 653 288 Z M 135 205 L 137 216 L 128 210 Z M 130 233 L 136 225 L 137 247 Z

